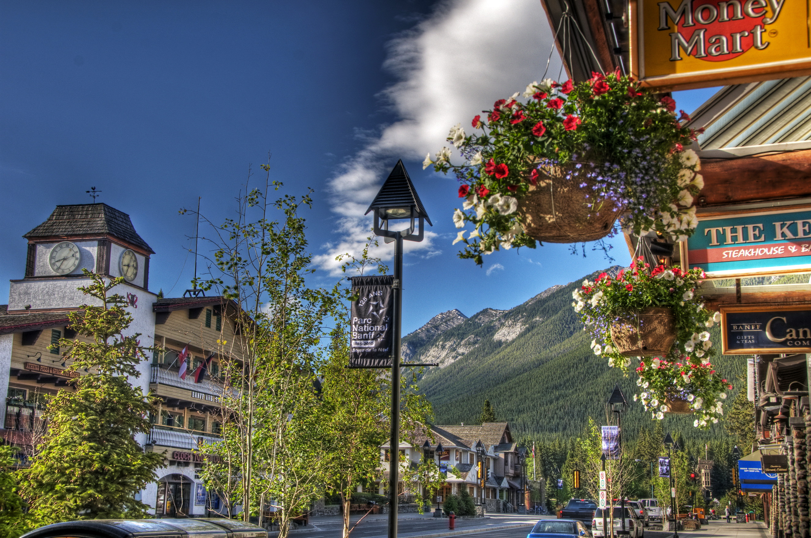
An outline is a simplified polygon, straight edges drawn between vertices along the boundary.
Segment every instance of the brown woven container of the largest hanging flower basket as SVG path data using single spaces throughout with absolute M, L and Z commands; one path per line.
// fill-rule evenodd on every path
M 518 201 L 528 236 L 548 243 L 579 243 L 611 233 L 622 208 L 616 209 L 611 202 L 598 203 L 596 210 L 587 207 L 590 199 L 586 197 L 594 197 L 594 181 L 577 177 L 574 163 L 538 171 L 538 185 L 530 186 Z

